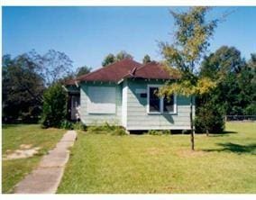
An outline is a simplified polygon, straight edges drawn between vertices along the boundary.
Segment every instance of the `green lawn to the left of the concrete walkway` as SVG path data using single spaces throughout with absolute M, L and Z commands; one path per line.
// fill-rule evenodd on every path
M 3 125 L 3 155 L 7 150 L 20 149 L 21 144 L 32 144 L 32 147 L 41 147 L 39 153 L 32 158 L 3 160 L 3 193 L 12 193 L 14 186 L 38 165 L 41 156 L 55 146 L 64 132 L 65 130 L 59 129 L 41 129 L 40 125 L 37 124 Z

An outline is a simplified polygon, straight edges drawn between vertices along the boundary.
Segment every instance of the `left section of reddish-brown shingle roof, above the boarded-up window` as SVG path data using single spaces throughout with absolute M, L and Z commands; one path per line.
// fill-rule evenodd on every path
M 113 81 L 118 82 L 133 68 L 140 68 L 142 64 L 133 59 L 122 59 L 105 68 L 99 68 L 87 75 L 78 77 L 78 81 Z

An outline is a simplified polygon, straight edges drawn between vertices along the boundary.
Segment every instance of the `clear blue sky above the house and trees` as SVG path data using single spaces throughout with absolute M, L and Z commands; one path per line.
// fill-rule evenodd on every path
M 65 52 L 74 69 L 99 68 L 108 53 L 120 50 L 142 61 L 145 54 L 162 59 L 159 41 L 173 41 L 170 7 L 2 7 L 3 54 L 14 58 L 36 50 Z M 183 10 L 184 7 L 172 7 Z M 214 7 L 208 18 L 230 13 L 215 29 L 209 51 L 222 45 L 256 52 L 256 7 Z

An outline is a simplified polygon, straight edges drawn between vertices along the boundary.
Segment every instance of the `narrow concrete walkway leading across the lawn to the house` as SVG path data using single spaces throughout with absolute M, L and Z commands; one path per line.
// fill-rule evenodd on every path
M 14 188 L 17 194 L 54 194 L 57 191 L 65 164 L 69 160 L 69 147 L 74 144 L 77 132 L 68 131 L 55 149 L 43 156 L 39 167 L 34 169 Z

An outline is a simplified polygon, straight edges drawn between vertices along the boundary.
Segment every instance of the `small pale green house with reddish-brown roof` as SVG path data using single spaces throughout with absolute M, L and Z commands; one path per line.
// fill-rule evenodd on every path
M 127 131 L 189 130 L 189 98 L 172 95 L 168 100 L 155 94 L 175 79 L 155 61 L 116 61 L 67 83 L 70 119 L 79 118 L 88 126 L 119 125 Z

